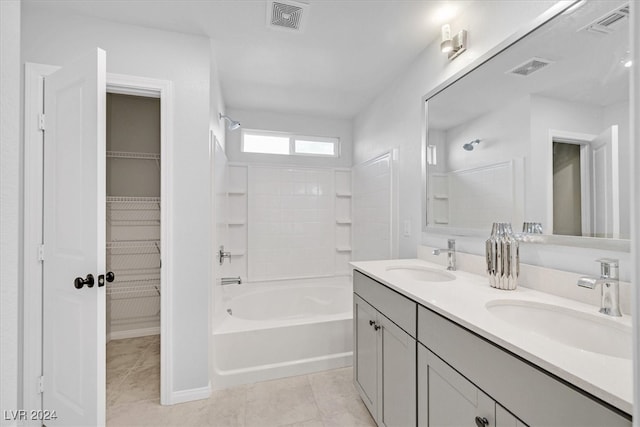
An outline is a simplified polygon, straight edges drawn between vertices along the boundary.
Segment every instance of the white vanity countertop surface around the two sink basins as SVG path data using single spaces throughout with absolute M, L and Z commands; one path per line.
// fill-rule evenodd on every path
M 387 268 L 423 266 L 445 270 L 441 265 L 419 259 L 352 262 L 366 275 L 384 283 L 417 303 L 441 314 L 558 376 L 612 406 L 631 414 L 633 407 L 633 363 L 623 359 L 581 350 L 511 325 L 486 309 L 489 301 L 509 299 L 559 305 L 572 310 L 603 316 L 631 327 L 631 318 L 612 318 L 598 313 L 598 307 L 519 286 L 505 291 L 489 286 L 488 279 L 464 271 L 452 272 L 448 282 L 398 279 Z

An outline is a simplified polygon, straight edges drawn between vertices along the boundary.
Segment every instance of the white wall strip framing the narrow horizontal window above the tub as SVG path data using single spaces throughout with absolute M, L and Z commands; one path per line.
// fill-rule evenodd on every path
M 227 109 L 233 120 L 243 129 L 269 130 L 296 133 L 304 136 L 328 136 L 340 138 L 340 157 L 279 156 L 269 154 L 242 153 L 240 142 L 242 131 L 227 131 L 227 157 L 230 162 L 277 163 L 297 166 L 351 167 L 352 124 L 350 120 L 330 117 L 313 117 L 266 111 Z

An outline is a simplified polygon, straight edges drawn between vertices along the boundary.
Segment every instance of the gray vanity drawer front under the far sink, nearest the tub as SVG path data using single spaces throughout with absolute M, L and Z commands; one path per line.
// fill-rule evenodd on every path
M 353 291 L 404 329 L 406 333 L 416 337 L 417 304 L 415 301 L 365 276 L 358 270 L 353 272 Z

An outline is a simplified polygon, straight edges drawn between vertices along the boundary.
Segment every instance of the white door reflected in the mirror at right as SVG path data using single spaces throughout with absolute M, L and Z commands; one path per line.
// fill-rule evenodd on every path
M 607 128 L 591 141 L 591 206 L 593 233 L 597 237 L 619 238 L 620 196 L 618 178 L 618 126 Z

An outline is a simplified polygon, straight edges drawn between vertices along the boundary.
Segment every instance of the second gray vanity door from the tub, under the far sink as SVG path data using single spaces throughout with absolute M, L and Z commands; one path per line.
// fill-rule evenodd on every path
M 416 340 L 379 314 L 380 412 L 378 424 L 416 425 Z

